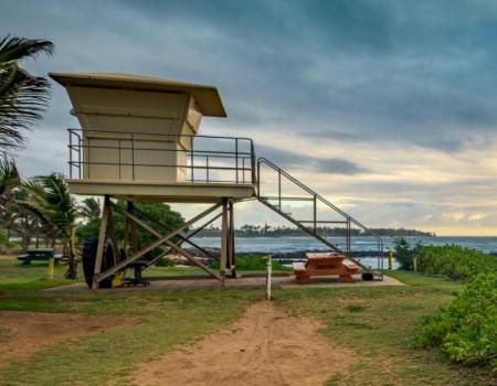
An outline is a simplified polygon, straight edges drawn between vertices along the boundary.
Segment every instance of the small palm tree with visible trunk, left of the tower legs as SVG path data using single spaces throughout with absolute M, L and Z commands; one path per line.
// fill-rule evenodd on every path
M 68 258 L 65 276 L 75 279 L 77 276 L 75 244 L 78 212 L 64 176 L 57 173 L 38 176 L 25 182 L 23 189 L 29 194 L 24 201 L 20 202 L 20 205 L 35 213 L 44 224 L 57 232 Z

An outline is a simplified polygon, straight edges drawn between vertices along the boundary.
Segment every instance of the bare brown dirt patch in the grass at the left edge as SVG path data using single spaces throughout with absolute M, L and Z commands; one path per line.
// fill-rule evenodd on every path
M 63 339 L 101 333 L 129 321 L 74 313 L 0 311 L 0 366 Z

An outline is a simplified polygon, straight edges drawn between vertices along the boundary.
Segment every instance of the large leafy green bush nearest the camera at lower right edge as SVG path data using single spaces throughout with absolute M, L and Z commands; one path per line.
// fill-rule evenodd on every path
M 497 271 L 477 275 L 451 305 L 423 319 L 413 345 L 441 347 L 453 362 L 497 374 Z

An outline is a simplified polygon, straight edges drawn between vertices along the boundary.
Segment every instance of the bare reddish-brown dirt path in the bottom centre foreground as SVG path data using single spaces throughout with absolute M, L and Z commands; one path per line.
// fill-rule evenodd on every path
M 289 318 L 269 302 L 251 305 L 229 333 L 142 365 L 136 385 L 322 385 L 353 355 L 317 333 L 321 324 Z

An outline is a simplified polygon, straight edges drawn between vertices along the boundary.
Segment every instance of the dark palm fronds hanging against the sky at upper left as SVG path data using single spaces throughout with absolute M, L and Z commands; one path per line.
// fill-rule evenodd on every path
M 40 53 L 51 55 L 53 44 L 11 35 L 0 40 L 0 156 L 23 146 L 23 131 L 38 122 L 46 108 L 49 81 L 19 66 L 20 61 Z

